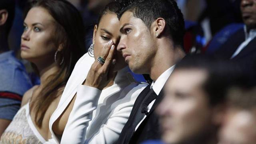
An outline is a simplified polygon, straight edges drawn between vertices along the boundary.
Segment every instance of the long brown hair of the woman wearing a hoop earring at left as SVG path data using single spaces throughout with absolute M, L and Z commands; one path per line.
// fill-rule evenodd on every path
M 36 0 L 32 1 L 25 11 L 25 16 L 33 7 L 41 7 L 55 20 L 55 45 L 63 47 L 57 59 L 58 64 L 64 58 L 60 70 L 47 79 L 37 99 L 31 102 L 32 109 L 36 109 L 35 121 L 42 127 L 45 112 L 54 99 L 59 97 L 58 90 L 63 87 L 74 69 L 78 59 L 85 53 L 85 33 L 82 17 L 79 11 L 65 0 Z

